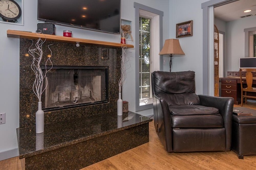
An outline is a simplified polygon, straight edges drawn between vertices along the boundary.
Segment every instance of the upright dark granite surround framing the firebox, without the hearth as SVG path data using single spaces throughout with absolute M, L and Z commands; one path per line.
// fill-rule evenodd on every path
M 36 43 L 36 40 L 33 42 Z M 116 111 L 118 100 L 118 79 L 120 77 L 120 55 L 122 49 L 96 45 L 80 45 L 46 41 L 43 45 L 45 63 L 46 56 L 50 54 L 48 45 L 52 50 L 52 63 L 54 66 L 106 66 L 108 67 L 108 103 L 90 106 L 46 111 L 45 123 L 64 121 L 86 117 L 99 113 Z M 38 107 L 38 99 L 32 90 L 34 72 L 30 68 L 32 57 L 27 56 L 32 40 L 20 38 L 20 128 L 35 125 L 35 113 Z

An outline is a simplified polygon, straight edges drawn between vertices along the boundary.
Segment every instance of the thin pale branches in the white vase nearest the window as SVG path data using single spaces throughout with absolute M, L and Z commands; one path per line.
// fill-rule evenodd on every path
M 122 85 L 124 84 L 124 80 L 126 78 L 126 70 L 128 68 L 130 68 L 130 66 L 128 68 L 126 68 L 126 64 L 130 63 L 129 57 L 127 57 L 126 48 L 127 48 L 127 45 L 123 44 L 122 45 L 122 55 L 120 56 L 120 58 L 121 58 L 121 77 L 118 81 L 119 93 L 122 92 Z

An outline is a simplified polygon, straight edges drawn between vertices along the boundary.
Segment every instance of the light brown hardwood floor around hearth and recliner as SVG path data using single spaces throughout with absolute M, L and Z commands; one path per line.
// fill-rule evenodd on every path
M 256 109 L 256 104 L 248 102 L 244 107 Z M 0 161 L 0 170 L 24 169 L 24 159 Z M 244 156 L 242 160 L 233 151 L 168 153 L 156 135 L 154 122 L 150 122 L 149 143 L 81 170 L 256 170 L 256 155 Z

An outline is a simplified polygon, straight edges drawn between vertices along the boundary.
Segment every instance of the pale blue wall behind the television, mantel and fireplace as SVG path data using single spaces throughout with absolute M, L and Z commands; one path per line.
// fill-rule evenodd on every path
M 19 39 L 8 38 L 6 30 L 35 32 L 38 23 L 37 1 L 23 1 L 24 25 L 0 23 L 0 113 L 6 113 L 6 123 L 0 125 L 0 160 L 18 155 L 16 128 L 19 127 Z M 163 11 L 163 36 L 169 37 L 169 0 L 122 0 L 121 2 L 121 18 L 132 22 L 134 21 L 134 2 Z M 77 38 L 120 42 L 120 35 L 56 25 L 57 35 L 62 35 L 63 30 L 72 31 L 73 37 Z M 132 44 L 131 41 L 128 41 L 128 43 Z M 134 49 L 129 49 L 128 55 L 130 56 L 131 68 L 127 70 L 127 78 L 123 88 L 123 99 L 129 102 L 129 110 L 133 111 L 135 108 Z M 152 115 L 153 111 L 150 109 L 142 111 L 141 114 Z

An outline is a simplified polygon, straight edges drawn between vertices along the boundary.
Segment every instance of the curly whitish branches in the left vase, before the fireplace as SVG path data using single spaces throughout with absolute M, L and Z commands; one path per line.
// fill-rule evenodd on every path
M 40 32 L 41 33 L 41 32 Z M 48 85 L 48 80 L 46 77 L 46 73 L 48 71 L 50 71 L 52 69 L 52 61 L 51 61 L 51 57 L 52 57 L 52 50 L 50 49 L 50 45 L 48 45 L 48 49 L 50 50 L 51 54 L 48 56 L 48 59 L 45 62 L 45 66 L 47 65 L 48 62 L 50 62 L 50 69 L 46 69 L 45 73 L 42 71 L 40 64 L 42 61 L 42 57 L 43 57 L 43 51 L 42 51 L 42 45 L 44 44 L 45 40 L 43 41 L 40 37 L 38 38 L 38 40 L 36 41 L 35 47 L 34 49 L 32 49 L 32 45 L 33 45 L 33 40 L 32 40 L 32 45 L 29 47 L 28 53 L 33 57 L 33 61 L 31 64 L 31 68 L 34 71 L 36 78 L 33 84 L 33 91 L 36 94 L 37 98 L 38 98 L 38 102 L 41 102 L 41 98 L 42 98 L 42 93 L 44 92 L 44 90 L 46 89 L 46 86 Z M 46 68 L 46 67 L 45 67 Z M 46 80 L 46 85 L 45 88 L 43 89 L 43 80 Z

